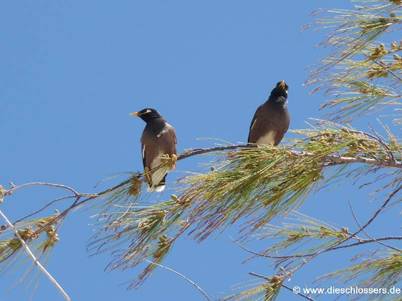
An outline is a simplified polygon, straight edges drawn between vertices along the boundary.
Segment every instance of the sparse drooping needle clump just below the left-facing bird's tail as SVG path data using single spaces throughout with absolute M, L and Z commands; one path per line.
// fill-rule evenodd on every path
M 103 198 L 106 206 L 97 216 L 100 230 L 92 238 L 92 253 L 112 251 L 114 260 L 108 270 L 127 269 L 137 266 L 148 258 L 159 263 L 170 250 L 185 223 L 180 219 L 186 204 L 176 196 L 151 205 L 140 205 L 141 197 L 152 195 L 139 188 L 138 175 L 124 181 L 117 191 Z M 135 191 L 135 193 L 133 193 Z M 125 247 L 122 247 L 125 246 Z M 149 264 L 130 287 L 138 287 L 156 267 Z

